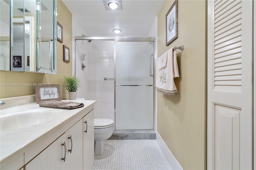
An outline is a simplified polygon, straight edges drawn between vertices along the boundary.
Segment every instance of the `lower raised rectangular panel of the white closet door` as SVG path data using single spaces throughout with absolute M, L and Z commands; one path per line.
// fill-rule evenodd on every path
M 241 110 L 214 103 L 216 169 L 239 169 Z

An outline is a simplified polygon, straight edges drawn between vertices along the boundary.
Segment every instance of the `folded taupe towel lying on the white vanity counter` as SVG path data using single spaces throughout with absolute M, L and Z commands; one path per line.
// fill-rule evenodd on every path
M 52 107 L 58 109 L 76 109 L 84 107 L 84 103 L 74 103 L 72 101 L 57 101 L 57 100 L 48 100 L 40 101 L 38 103 L 42 107 Z

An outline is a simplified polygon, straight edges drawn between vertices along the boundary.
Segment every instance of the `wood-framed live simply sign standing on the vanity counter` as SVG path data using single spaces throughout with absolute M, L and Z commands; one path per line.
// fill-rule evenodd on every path
M 41 83 L 42 84 L 42 83 Z M 59 84 L 42 84 L 44 86 L 36 86 L 36 103 L 46 100 L 61 101 Z M 45 86 L 49 85 L 49 86 Z

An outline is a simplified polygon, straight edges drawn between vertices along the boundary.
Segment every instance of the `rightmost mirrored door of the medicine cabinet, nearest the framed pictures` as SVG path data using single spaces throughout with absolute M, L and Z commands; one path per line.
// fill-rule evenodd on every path
M 56 0 L 37 0 L 36 6 L 36 72 L 56 74 Z

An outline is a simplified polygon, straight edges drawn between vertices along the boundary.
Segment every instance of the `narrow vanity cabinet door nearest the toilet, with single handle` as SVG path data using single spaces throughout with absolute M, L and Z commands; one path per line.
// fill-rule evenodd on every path
M 83 118 L 84 170 L 91 170 L 94 164 L 94 109 Z

